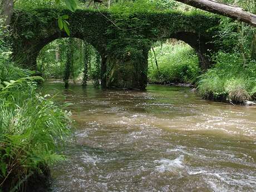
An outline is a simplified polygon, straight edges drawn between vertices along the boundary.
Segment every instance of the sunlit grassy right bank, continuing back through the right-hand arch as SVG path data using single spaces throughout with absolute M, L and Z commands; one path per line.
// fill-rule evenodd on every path
M 155 62 L 156 55 L 158 70 Z M 154 47 L 149 53 L 149 83 L 192 83 L 209 100 L 243 104 L 256 100 L 256 61 L 246 63 L 240 53 L 219 51 L 215 65 L 200 75 L 198 56 L 184 43 Z

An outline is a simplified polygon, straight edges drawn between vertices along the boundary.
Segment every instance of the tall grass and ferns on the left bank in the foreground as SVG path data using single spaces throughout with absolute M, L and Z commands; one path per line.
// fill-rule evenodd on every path
M 1 33 L 0 191 L 17 191 L 29 186 L 31 177 L 48 176 L 48 165 L 64 159 L 58 149 L 71 130 L 67 113 L 38 92 L 42 77 L 11 61 L 3 37 Z

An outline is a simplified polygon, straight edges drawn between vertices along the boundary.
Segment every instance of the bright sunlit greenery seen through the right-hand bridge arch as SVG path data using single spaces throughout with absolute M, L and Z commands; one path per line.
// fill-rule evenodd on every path
M 149 52 L 148 80 L 150 83 L 194 83 L 200 74 L 198 56 L 185 43 L 169 43 L 154 48 L 159 66 L 157 71 L 154 52 Z

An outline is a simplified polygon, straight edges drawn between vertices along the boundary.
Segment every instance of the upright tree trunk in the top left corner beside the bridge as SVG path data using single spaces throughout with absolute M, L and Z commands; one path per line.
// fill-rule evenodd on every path
M 4 26 L 9 26 L 13 14 L 13 0 L 0 0 L 0 14 L 4 18 Z

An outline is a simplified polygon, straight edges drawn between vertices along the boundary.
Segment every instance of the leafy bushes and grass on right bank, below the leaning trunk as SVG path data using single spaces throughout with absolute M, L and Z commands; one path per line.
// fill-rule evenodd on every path
M 255 13 L 255 1 L 221 1 L 243 7 Z M 214 37 L 219 51 L 215 65 L 200 77 L 198 90 L 207 99 L 242 103 L 254 100 L 256 85 L 255 28 L 221 17 Z

